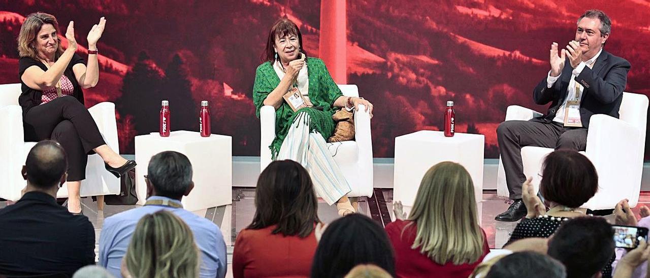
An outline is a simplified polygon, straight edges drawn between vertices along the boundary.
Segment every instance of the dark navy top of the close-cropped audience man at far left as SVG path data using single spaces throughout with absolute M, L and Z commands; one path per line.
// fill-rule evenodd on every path
M 0 275 L 67 273 L 95 264 L 95 229 L 42 192 L 0 209 Z

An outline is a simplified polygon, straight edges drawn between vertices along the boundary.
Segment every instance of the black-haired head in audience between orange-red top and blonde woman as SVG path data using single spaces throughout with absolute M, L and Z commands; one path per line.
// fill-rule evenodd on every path
M 382 226 L 363 214 L 350 214 L 325 229 L 311 277 L 344 277 L 359 264 L 374 264 L 395 276 L 393 248 Z

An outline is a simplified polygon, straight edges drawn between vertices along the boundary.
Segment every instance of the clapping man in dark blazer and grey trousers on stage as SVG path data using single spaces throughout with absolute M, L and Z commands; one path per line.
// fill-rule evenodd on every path
M 603 50 L 612 21 L 601 10 L 578 18 L 575 40 L 564 49 L 551 44 L 551 71 L 533 91 L 538 105 L 551 103 L 547 114 L 530 121 L 504 121 L 497 128 L 499 152 L 512 205 L 497 221 L 526 215 L 521 184 L 526 181 L 521 147 L 534 145 L 584 151 L 593 114 L 619 117 L 630 63 Z

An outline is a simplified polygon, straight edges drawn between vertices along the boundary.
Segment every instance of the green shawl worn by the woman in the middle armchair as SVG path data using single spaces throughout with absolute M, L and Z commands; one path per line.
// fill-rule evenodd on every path
M 330 72 L 324 62 L 319 58 L 307 58 L 307 76 L 309 78 L 309 100 L 317 107 L 302 108 L 293 112 L 289 104 L 283 101 L 281 107 L 276 110 L 276 138 L 268 147 L 271 149 L 272 158 L 275 160 L 291 124 L 300 120 L 296 116 L 300 112 L 307 112 L 311 118 L 309 127 L 311 132 L 318 131 L 325 140 L 330 138 L 334 132 L 335 123 L 331 116 L 336 112 L 334 101 L 341 97 L 339 86 L 331 79 Z M 264 106 L 264 100 L 280 83 L 280 79 L 270 62 L 264 62 L 255 71 L 255 84 L 253 84 L 253 104 L 255 104 L 255 115 L 259 118 L 259 110 Z M 304 120 L 304 119 L 302 119 Z

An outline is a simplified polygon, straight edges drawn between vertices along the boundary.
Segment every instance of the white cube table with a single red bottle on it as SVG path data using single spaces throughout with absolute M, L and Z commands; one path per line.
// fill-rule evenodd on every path
M 482 134 L 456 133 L 445 137 L 442 131 L 417 131 L 395 138 L 395 179 L 393 199 L 402 201 L 405 212 L 413 207 L 424 173 L 443 161 L 461 164 L 472 177 L 476 203 L 483 200 Z M 478 214 L 480 221 L 480 210 Z

